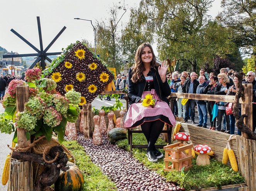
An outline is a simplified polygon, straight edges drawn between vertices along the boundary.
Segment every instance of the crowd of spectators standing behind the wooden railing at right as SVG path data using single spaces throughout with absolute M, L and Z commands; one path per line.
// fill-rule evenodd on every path
M 171 92 L 177 93 L 193 93 L 193 94 L 209 94 L 209 95 L 236 95 L 238 79 L 232 74 L 234 71 L 229 68 L 220 69 L 219 74 L 210 73 L 209 79 L 205 76 L 205 71 L 200 70 L 199 75 L 195 72 L 189 73 L 183 71 L 181 73 L 175 71 L 172 74 L 167 74 L 166 78 L 171 88 Z M 256 103 L 256 80 L 255 73 L 249 71 L 244 74 L 242 83 L 253 84 L 253 103 Z M 188 100 L 185 105 L 181 104 L 180 98 L 172 99 L 173 113 L 175 116 L 183 117 L 185 122 L 191 119 L 191 123 L 195 124 L 195 108 L 198 111 L 197 126 L 209 128 L 210 130 L 222 131 L 229 134 L 235 133 L 235 117 L 234 115 L 227 115 L 226 106 L 228 103 L 215 102 L 206 100 Z M 218 106 L 217 117 L 213 119 L 212 111 L 214 105 Z M 241 113 L 241 105 L 239 105 Z M 256 115 L 256 104 L 253 104 L 253 116 Z M 210 124 L 207 124 L 207 120 Z M 223 128 L 222 128 L 223 121 Z M 207 127 L 207 125 L 210 125 Z M 256 118 L 253 118 L 253 131 L 256 127 Z M 241 135 L 241 131 L 237 131 Z

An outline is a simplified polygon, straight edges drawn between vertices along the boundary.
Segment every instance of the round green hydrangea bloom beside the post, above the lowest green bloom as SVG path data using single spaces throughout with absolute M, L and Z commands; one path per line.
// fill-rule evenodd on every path
M 42 116 L 44 111 L 44 105 L 41 98 L 33 97 L 30 98 L 24 105 L 24 111 L 28 111 L 32 115 L 35 115 L 37 119 Z

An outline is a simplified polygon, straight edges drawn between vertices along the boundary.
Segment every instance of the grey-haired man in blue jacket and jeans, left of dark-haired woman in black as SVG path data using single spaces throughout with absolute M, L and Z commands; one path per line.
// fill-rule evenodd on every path
M 205 77 L 199 76 L 198 78 L 199 85 L 197 86 L 197 94 L 203 94 L 203 89 L 205 86 L 207 86 L 207 83 L 205 82 Z M 197 103 L 197 110 L 198 110 L 198 118 L 199 123 L 197 126 L 207 128 L 207 108 L 206 108 L 206 102 L 203 100 L 196 100 Z

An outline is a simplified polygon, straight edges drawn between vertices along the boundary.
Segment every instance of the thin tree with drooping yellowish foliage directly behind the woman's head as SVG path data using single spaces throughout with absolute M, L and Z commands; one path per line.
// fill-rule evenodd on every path
M 121 45 L 125 60 L 129 62 L 129 67 L 134 63 L 136 50 L 144 42 L 153 43 L 153 31 L 146 25 L 147 15 L 142 8 L 131 8 L 129 22 L 122 30 Z

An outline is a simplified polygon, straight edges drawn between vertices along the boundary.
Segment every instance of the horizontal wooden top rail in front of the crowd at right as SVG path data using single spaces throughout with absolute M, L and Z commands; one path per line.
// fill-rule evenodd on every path
M 168 99 L 174 98 L 186 98 L 191 100 L 207 100 L 207 101 L 223 101 L 234 103 L 235 96 L 226 96 L 226 95 L 207 95 L 207 94 L 195 94 L 195 93 L 171 93 Z M 248 97 L 240 98 L 239 103 L 248 104 Z

